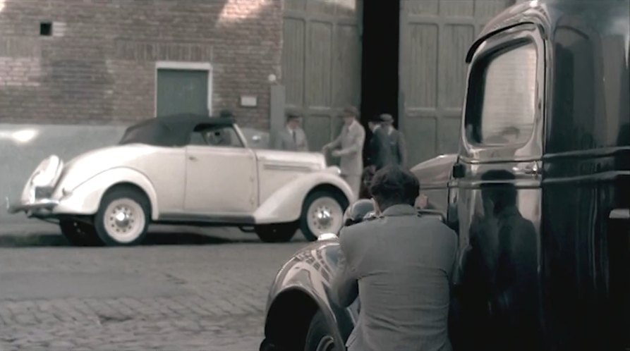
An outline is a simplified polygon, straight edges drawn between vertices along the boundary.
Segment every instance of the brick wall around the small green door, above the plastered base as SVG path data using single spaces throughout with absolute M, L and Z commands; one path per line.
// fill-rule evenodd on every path
M 156 61 L 194 61 L 212 64 L 215 113 L 266 129 L 281 36 L 281 0 L 0 1 L 0 123 L 150 118 Z

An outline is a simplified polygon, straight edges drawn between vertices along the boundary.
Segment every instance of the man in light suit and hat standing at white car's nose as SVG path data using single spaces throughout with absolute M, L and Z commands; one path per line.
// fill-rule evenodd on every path
M 341 134 L 333 142 L 326 144 L 322 152 L 333 149 L 332 156 L 339 157 L 341 176 L 350 185 L 355 196 L 358 196 L 361 187 L 361 172 L 363 172 L 363 142 L 365 142 L 365 129 L 358 123 L 358 110 L 349 106 L 341 113 L 344 118 L 344 128 Z M 340 148 L 340 149 L 339 149 Z

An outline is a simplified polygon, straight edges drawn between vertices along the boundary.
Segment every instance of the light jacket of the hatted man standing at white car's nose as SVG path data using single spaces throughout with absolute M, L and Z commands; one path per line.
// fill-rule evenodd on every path
M 341 147 L 339 160 L 339 168 L 341 173 L 348 176 L 361 176 L 363 172 L 363 142 L 365 142 L 365 129 L 363 125 L 354 121 L 350 127 L 341 129 L 341 134 L 333 142 L 330 147 L 336 149 Z

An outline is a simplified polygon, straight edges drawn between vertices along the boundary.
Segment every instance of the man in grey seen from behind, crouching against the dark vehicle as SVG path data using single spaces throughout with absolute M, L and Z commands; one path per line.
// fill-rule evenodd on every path
M 418 180 L 404 168 L 378 171 L 370 192 L 379 218 L 341 230 L 332 282 L 341 306 L 361 300 L 348 350 L 452 350 L 447 326 L 456 234 L 418 215 Z

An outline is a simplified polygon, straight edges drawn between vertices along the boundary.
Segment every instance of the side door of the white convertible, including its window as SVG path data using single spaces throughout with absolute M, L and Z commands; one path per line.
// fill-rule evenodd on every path
M 186 147 L 185 209 L 220 220 L 253 214 L 256 160 L 232 125 L 198 125 Z

